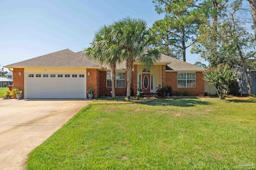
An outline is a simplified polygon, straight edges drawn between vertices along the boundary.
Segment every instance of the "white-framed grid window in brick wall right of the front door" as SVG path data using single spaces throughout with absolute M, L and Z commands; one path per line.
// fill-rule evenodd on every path
M 184 72 L 178 73 L 178 87 L 179 88 L 190 88 L 196 87 L 196 76 L 195 73 Z

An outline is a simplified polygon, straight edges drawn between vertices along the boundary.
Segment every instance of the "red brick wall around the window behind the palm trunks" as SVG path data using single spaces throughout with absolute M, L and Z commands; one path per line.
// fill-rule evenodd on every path
M 132 76 L 132 83 L 131 88 L 133 88 L 133 76 Z M 126 90 L 127 90 L 127 81 L 126 81 L 126 75 L 125 75 L 125 88 L 115 88 L 116 96 L 126 96 Z M 110 92 L 112 91 L 112 88 L 107 88 L 107 72 L 106 71 L 100 71 L 100 94 L 109 96 Z

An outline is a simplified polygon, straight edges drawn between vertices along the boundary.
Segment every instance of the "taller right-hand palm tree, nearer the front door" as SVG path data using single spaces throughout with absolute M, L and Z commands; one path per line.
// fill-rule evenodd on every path
M 150 34 L 145 20 L 127 17 L 115 21 L 112 27 L 113 39 L 118 41 L 118 49 L 122 49 L 119 50 L 120 58 L 126 62 L 126 97 L 128 97 L 134 61 L 140 61 L 144 64 L 144 68 L 150 68 L 160 59 L 160 52 L 153 48 L 156 45 L 156 37 Z

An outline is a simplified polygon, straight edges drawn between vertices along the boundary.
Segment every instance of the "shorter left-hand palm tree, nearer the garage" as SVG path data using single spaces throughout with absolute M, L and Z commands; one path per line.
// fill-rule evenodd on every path
M 121 48 L 116 45 L 117 41 L 113 37 L 112 25 L 104 25 L 94 34 L 94 38 L 90 47 L 85 48 L 83 56 L 89 60 L 94 60 L 99 64 L 108 64 L 111 69 L 112 80 L 112 97 L 115 97 L 115 79 L 116 79 L 116 63 L 121 63 L 119 56 Z

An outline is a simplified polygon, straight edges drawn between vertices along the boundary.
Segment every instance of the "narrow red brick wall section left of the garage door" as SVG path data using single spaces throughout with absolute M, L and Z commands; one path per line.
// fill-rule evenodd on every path
M 19 76 L 21 72 L 21 76 Z M 22 89 L 21 98 L 24 99 L 24 68 L 14 68 L 13 69 L 13 88 Z M 14 99 L 17 99 L 16 95 L 13 95 Z

